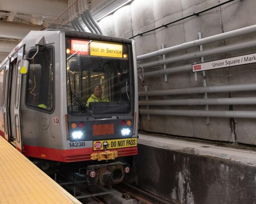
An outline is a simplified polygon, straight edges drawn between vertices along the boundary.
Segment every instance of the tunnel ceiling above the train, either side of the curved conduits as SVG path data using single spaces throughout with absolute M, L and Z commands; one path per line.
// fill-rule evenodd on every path
M 82 1 L 82 0 L 78 0 Z M 89 10 L 97 20 L 108 14 L 124 3 L 132 0 L 95 0 L 91 1 Z M 90 3 L 90 1 L 88 1 Z M 17 29 L 41 30 L 54 21 L 68 8 L 68 0 L 1 0 L 0 1 L 0 62 L 24 37 L 15 38 L 11 33 L 17 33 Z M 68 11 L 64 12 L 58 22 L 55 21 L 49 28 L 55 29 L 57 25 L 64 24 L 61 28 L 73 29 L 68 20 Z M 15 24 L 16 23 L 16 24 Z M 19 25 L 20 24 L 20 25 Z M 83 22 L 81 22 L 84 25 Z M 33 28 L 34 25 L 34 28 Z M 41 26 L 41 27 L 40 27 Z M 10 34 L 9 34 L 10 33 Z M 18 35 L 18 33 L 17 33 Z

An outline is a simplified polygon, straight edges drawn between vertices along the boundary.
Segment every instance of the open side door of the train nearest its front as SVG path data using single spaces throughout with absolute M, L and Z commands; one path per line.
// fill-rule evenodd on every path
M 9 66 L 9 92 L 7 92 L 7 99 L 10 101 L 7 103 L 7 115 L 10 120 L 8 125 L 9 134 L 8 139 L 18 149 L 22 152 L 23 145 L 20 134 L 20 62 L 23 58 L 24 47 L 21 47 L 17 53 L 11 58 Z

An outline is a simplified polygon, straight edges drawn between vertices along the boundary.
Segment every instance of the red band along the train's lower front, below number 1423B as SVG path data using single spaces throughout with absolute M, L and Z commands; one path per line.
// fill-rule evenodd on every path
M 91 160 L 91 153 L 104 152 L 104 151 L 93 151 L 92 148 L 81 148 L 81 149 L 53 149 L 45 147 L 37 147 L 24 145 L 23 154 L 27 157 L 36 157 L 49 159 L 59 162 L 78 162 Z M 125 157 L 138 154 L 137 147 L 111 149 L 118 151 L 118 157 Z

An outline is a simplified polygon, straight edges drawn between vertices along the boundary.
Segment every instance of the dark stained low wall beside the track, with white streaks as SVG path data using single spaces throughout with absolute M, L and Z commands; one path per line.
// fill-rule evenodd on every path
M 204 146 L 207 148 L 207 146 Z M 185 151 L 138 145 L 133 182 L 174 204 L 256 204 L 256 166 Z

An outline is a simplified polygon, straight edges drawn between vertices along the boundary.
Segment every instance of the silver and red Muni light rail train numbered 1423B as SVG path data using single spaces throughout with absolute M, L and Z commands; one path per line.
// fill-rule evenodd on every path
M 86 106 L 96 86 L 108 101 Z M 133 40 L 31 31 L 0 64 L 0 135 L 45 171 L 110 186 L 137 154 L 137 90 Z

